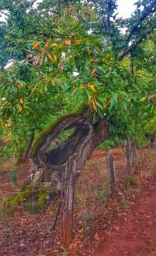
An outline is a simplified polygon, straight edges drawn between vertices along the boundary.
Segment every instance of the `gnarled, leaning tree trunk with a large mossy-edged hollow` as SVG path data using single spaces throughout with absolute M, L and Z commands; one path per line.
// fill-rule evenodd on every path
M 66 142 L 48 150 L 62 131 L 71 128 L 74 130 Z M 94 149 L 108 137 L 108 130 L 109 125 L 105 119 L 99 119 L 93 124 L 89 113 L 76 113 L 61 118 L 34 143 L 32 167 L 26 185 L 32 184 L 36 189 L 41 184 L 49 185 L 60 190 L 69 161 L 76 163 L 75 175 L 78 178 Z

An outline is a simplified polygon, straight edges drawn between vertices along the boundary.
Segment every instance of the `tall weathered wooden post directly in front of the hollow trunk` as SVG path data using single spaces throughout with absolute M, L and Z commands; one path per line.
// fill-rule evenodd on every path
M 61 195 L 61 245 L 63 247 L 67 247 L 72 239 L 75 171 L 76 162 L 69 161 L 66 165 Z

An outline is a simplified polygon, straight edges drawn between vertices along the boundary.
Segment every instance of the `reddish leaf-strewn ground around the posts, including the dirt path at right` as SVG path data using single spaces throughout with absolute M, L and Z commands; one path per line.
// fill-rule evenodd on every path
M 127 188 L 124 150 L 115 148 L 113 154 L 121 201 L 101 201 L 107 153 L 94 152 L 78 180 L 74 239 L 67 250 L 61 248 L 60 222 L 55 232 L 50 230 L 56 209 L 52 201 L 46 212 L 32 214 L 20 205 L 13 216 L 2 219 L 0 256 L 156 256 L 156 152 L 147 148 L 137 152 L 137 186 Z M 29 172 L 29 163 L 20 166 L 14 186 L 9 181 L 13 164 L 9 160 L 0 166 L 2 199 L 18 193 Z

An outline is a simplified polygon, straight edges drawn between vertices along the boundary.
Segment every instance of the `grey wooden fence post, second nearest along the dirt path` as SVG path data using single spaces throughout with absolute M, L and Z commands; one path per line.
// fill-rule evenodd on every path
M 108 165 L 108 177 L 109 177 L 109 194 L 113 196 L 117 192 L 116 172 L 115 172 L 115 166 L 113 161 L 113 149 L 110 149 L 108 151 L 107 165 Z

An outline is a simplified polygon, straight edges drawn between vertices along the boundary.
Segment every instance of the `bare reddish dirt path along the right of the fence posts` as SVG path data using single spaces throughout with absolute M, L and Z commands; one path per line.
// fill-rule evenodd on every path
M 118 220 L 94 256 L 156 256 L 156 174 L 130 212 Z

